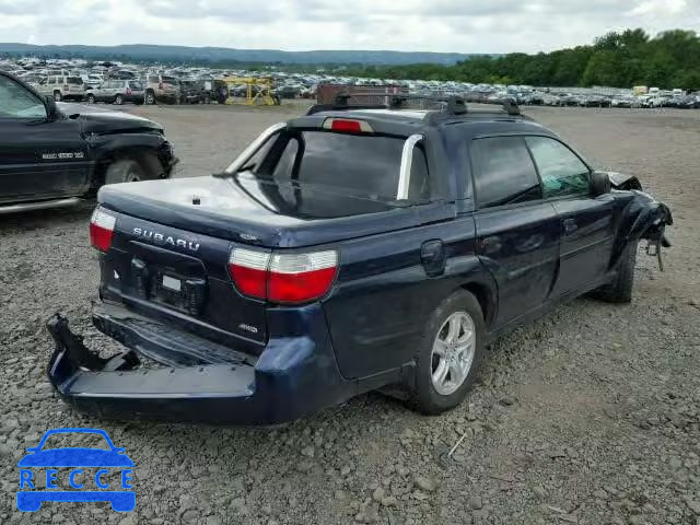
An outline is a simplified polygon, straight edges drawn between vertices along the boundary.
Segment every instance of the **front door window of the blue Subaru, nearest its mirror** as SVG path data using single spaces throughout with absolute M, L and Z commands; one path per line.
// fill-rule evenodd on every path
M 573 151 L 549 137 L 525 140 L 539 170 L 545 198 L 588 192 L 588 166 Z

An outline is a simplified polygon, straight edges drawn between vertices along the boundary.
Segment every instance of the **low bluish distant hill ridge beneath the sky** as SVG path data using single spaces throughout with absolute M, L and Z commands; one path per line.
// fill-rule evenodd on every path
M 136 62 L 189 63 L 362 63 L 366 66 L 405 66 L 439 63 L 452 66 L 472 55 L 459 52 L 405 51 L 282 51 L 278 49 L 230 49 L 225 47 L 186 47 L 132 44 L 124 46 L 35 46 L 0 44 L 0 56 L 38 56 L 45 58 L 85 58 L 89 60 L 122 60 Z

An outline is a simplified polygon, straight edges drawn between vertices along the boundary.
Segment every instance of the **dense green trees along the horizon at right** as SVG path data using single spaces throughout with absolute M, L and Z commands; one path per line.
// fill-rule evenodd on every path
M 611 32 L 591 46 L 527 55 L 481 56 L 455 66 L 417 63 L 351 67 L 345 74 L 401 80 L 440 80 L 539 86 L 700 90 L 700 37 L 674 30 L 652 37 L 643 30 Z

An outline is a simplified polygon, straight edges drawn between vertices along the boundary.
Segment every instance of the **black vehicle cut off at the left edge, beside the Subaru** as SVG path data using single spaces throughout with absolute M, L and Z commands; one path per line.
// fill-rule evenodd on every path
M 56 104 L 0 71 L 0 213 L 73 205 L 104 184 L 166 178 L 176 162 L 159 124 Z

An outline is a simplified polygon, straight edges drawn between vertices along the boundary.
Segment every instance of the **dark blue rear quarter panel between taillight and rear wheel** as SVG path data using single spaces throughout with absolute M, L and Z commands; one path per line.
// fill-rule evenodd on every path
M 342 243 L 340 271 L 324 311 L 341 374 L 366 377 L 410 363 L 430 315 L 469 283 L 493 282 L 475 256 L 474 218 Z M 427 276 L 421 245 L 442 240 L 445 273 Z

